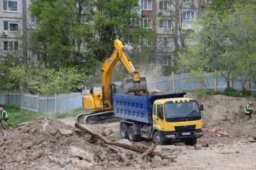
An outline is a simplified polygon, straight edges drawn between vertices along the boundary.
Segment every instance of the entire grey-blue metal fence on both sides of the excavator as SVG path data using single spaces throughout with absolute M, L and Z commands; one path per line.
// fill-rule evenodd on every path
M 203 73 L 203 81 L 187 83 L 189 73 L 175 74 L 170 76 L 162 76 L 159 78 L 148 79 L 147 84 L 149 89 L 164 89 L 167 91 L 186 91 L 191 89 L 216 89 L 223 91 L 226 88 L 226 81 L 215 76 L 215 73 Z M 244 77 L 239 78 L 244 79 Z M 234 89 L 242 89 L 241 81 L 230 81 L 231 87 Z M 255 85 L 250 81 L 245 83 L 246 89 L 255 91 Z M 94 91 L 100 91 L 100 87 L 95 87 Z M 57 113 L 66 112 L 82 107 L 82 96 L 85 92 L 71 94 L 56 94 L 56 95 L 35 95 L 23 94 L 18 91 L 4 91 L 0 94 L 0 104 L 11 106 L 19 104 L 22 109 L 27 109 L 33 112 Z

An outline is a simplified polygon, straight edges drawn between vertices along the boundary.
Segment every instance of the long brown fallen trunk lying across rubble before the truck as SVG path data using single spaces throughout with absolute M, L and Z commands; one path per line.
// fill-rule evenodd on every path
M 98 134 L 98 133 L 93 133 L 92 131 L 88 130 L 87 128 L 82 127 L 81 125 L 79 125 L 79 123 L 76 123 L 76 124 L 75 124 L 75 127 L 76 127 L 76 128 L 79 128 L 80 130 L 83 130 L 83 131 L 86 132 L 86 133 L 89 133 L 89 134 L 92 135 L 94 138 L 98 138 L 98 139 L 102 140 L 104 143 L 107 143 L 107 144 L 109 144 L 109 145 L 118 146 L 118 147 L 120 147 L 120 148 L 125 148 L 125 149 L 128 149 L 128 150 L 130 150 L 130 151 L 135 151 L 135 152 L 138 152 L 138 153 L 144 153 L 144 156 L 147 156 L 147 155 L 149 155 L 149 156 L 159 156 L 159 157 L 162 158 L 162 159 L 169 159 L 169 160 L 171 160 L 172 162 L 175 161 L 174 158 L 170 158 L 170 157 L 168 157 L 168 156 L 163 156 L 163 155 L 161 155 L 161 154 L 159 154 L 159 153 L 153 152 L 154 150 L 153 150 L 152 147 L 151 147 L 151 150 L 150 150 L 150 151 L 144 150 L 144 149 L 137 148 L 137 147 L 134 147 L 134 146 L 129 146 L 129 145 L 125 144 L 125 143 L 118 143 L 118 142 L 115 142 L 115 141 L 107 140 L 107 139 L 104 138 L 102 135 L 100 135 L 100 134 Z M 157 144 L 156 144 L 156 145 L 157 145 Z M 156 148 L 156 147 L 154 147 L 154 148 Z M 142 158 L 144 158 L 144 157 L 142 157 Z

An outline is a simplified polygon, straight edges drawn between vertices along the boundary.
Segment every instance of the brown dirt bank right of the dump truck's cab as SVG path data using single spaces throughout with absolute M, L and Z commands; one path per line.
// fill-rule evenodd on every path
M 206 143 L 230 143 L 232 140 L 256 136 L 255 112 L 252 119 L 247 120 L 244 107 L 250 99 L 239 97 L 226 97 L 224 95 L 196 95 L 186 94 L 186 97 L 198 99 L 203 104 L 203 128 L 219 128 L 226 133 L 221 138 L 216 138 L 216 133 L 204 133 Z M 252 99 L 255 100 L 255 99 Z

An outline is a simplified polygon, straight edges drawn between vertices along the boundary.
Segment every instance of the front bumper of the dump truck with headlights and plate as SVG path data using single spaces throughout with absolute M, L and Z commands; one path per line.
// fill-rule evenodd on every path
M 160 138 L 162 141 L 182 141 L 187 138 L 200 138 L 203 136 L 203 130 L 193 130 L 186 132 L 160 132 Z

